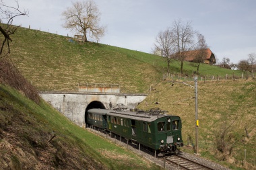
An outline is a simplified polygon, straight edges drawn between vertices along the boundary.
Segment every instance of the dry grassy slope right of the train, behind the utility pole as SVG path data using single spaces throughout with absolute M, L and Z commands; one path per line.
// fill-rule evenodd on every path
M 193 81 L 187 83 L 194 85 Z M 168 110 L 169 114 L 181 116 L 183 140 L 185 144 L 195 144 L 193 87 L 161 81 L 152 89 L 154 91 L 138 108 L 148 110 L 159 107 Z M 253 165 L 256 156 L 256 81 L 199 81 L 197 89 L 201 156 L 235 169 L 235 166 L 243 165 L 246 149 L 246 159 Z M 222 134 L 224 149 L 221 152 L 217 144 Z M 192 147 L 185 147 L 185 151 L 194 153 Z

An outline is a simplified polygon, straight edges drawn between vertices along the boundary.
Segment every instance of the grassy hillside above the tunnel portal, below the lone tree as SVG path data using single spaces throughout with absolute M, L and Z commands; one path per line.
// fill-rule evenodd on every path
M 146 92 L 162 79 L 166 62 L 160 56 L 19 28 L 11 37 L 11 58 L 24 76 L 40 90 L 75 91 L 78 83 L 116 83 L 122 92 Z M 171 65 L 179 73 L 179 62 Z M 196 67 L 186 62 L 185 73 Z M 234 71 L 201 65 L 201 75 L 232 74 Z M 236 74 L 240 74 L 235 71 Z

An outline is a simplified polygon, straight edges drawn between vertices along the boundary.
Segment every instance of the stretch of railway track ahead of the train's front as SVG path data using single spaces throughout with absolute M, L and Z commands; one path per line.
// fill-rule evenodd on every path
M 179 167 L 179 169 L 189 169 L 189 170 L 206 170 L 211 169 L 210 167 L 207 167 L 205 165 L 201 165 L 195 161 L 191 161 L 189 159 L 186 159 L 184 157 L 181 157 L 179 155 L 172 155 L 170 157 L 165 157 L 166 163 L 170 165 L 176 165 Z

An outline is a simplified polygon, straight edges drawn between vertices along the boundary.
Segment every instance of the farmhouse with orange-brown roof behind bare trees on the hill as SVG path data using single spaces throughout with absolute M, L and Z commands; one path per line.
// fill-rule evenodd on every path
M 200 54 L 205 55 L 205 57 L 199 56 Z M 216 58 L 214 53 L 210 48 L 205 49 L 205 51 L 191 50 L 185 52 L 185 60 L 189 62 L 197 62 L 198 58 L 203 58 L 202 62 L 205 64 L 216 64 Z

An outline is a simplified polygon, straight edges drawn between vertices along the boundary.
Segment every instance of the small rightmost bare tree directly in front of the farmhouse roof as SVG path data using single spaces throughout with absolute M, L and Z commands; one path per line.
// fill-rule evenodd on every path
M 200 64 L 205 60 L 205 58 L 207 57 L 207 44 L 205 42 L 205 38 L 202 34 L 197 34 L 197 40 L 198 40 L 198 43 L 197 43 L 197 54 L 195 55 L 195 62 L 197 62 L 197 73 L 199 71 L 199 66 Z

